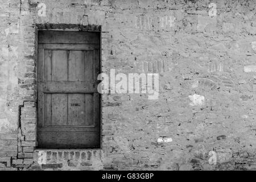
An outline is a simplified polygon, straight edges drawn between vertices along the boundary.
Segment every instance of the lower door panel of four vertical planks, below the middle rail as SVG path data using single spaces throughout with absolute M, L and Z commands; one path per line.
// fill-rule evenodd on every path
M 44 94 L 43 126 L 93 126 L 93 94 Z

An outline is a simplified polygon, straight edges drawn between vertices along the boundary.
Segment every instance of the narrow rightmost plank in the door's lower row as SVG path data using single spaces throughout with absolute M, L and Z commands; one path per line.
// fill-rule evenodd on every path
M 94 125 L 93 120 L 93 94 L 85 94 L 85 125 Z

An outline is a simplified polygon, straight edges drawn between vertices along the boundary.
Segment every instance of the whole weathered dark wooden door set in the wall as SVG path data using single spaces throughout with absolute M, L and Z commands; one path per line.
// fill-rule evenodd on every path
M 38 147 L 100 147 L 100 35 L 39 31 Z

